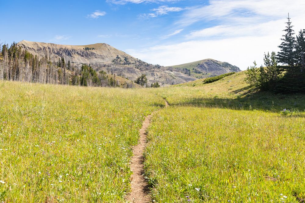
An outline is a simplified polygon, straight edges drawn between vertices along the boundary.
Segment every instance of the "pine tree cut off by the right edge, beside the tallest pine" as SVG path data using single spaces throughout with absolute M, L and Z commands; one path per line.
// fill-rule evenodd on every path
M 305 30 L 300 30 L 296 37 L 296 64 L 301 67 L 301 72 L 304 69 L 305 58 Z

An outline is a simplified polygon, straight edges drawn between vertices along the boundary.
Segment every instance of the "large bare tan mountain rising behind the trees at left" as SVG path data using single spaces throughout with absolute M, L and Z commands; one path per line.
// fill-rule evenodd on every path
M 138 76 L 145 74 L 149 85 L 152 82 L 159 82 L 162 86 L 166 86 L 196 79 L 160 65 L 148 64 L 105 43 L 62 45 L 22 40 L 17 45 L 40 58 L 47 56 L 51 61 L 58 61 L 63 57 L 65 61 L 75 64 L 90 64 L 95 70 L 103 70 L 112 75 L 115 73 L 130 80 L 135 80 Z M 112 73 L 109 72 L 109 67 L 114 68 Z

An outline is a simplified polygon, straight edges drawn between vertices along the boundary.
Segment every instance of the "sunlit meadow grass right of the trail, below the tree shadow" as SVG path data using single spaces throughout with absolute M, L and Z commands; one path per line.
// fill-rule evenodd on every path
M 262 111 L 161 110 L 149 127 L 145 153 L 153 198 L 298 202 L 305 197 L 304 126 L 302 117 Z

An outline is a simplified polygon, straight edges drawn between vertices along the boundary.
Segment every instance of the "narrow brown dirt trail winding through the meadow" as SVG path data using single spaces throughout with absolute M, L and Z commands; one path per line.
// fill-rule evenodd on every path
M 169 104 L 166 100 L 165 107 Z M 146 116 L 140 129 L 140 140 L 138 145 L 133 149 L 134 156 L 131 158 L 130 169 L 133 172 L 131 175 L 131 192 L 127 194 L 126 200 L 129 202 L 151 202 L 149 188 L 144 177 L 144 157 L 143 152 L 146 148 L 146 129 L 150 124 L 152 115 Z

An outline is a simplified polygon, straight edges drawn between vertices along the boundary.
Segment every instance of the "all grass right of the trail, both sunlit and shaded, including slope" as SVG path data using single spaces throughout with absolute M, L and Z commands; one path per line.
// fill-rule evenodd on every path
M 156 202 L 302 202 L 305 95 L 258 92 L 239 72 L 164 88 L 145 174 Z M 286 108 L 294 113 L 283 116 Z

